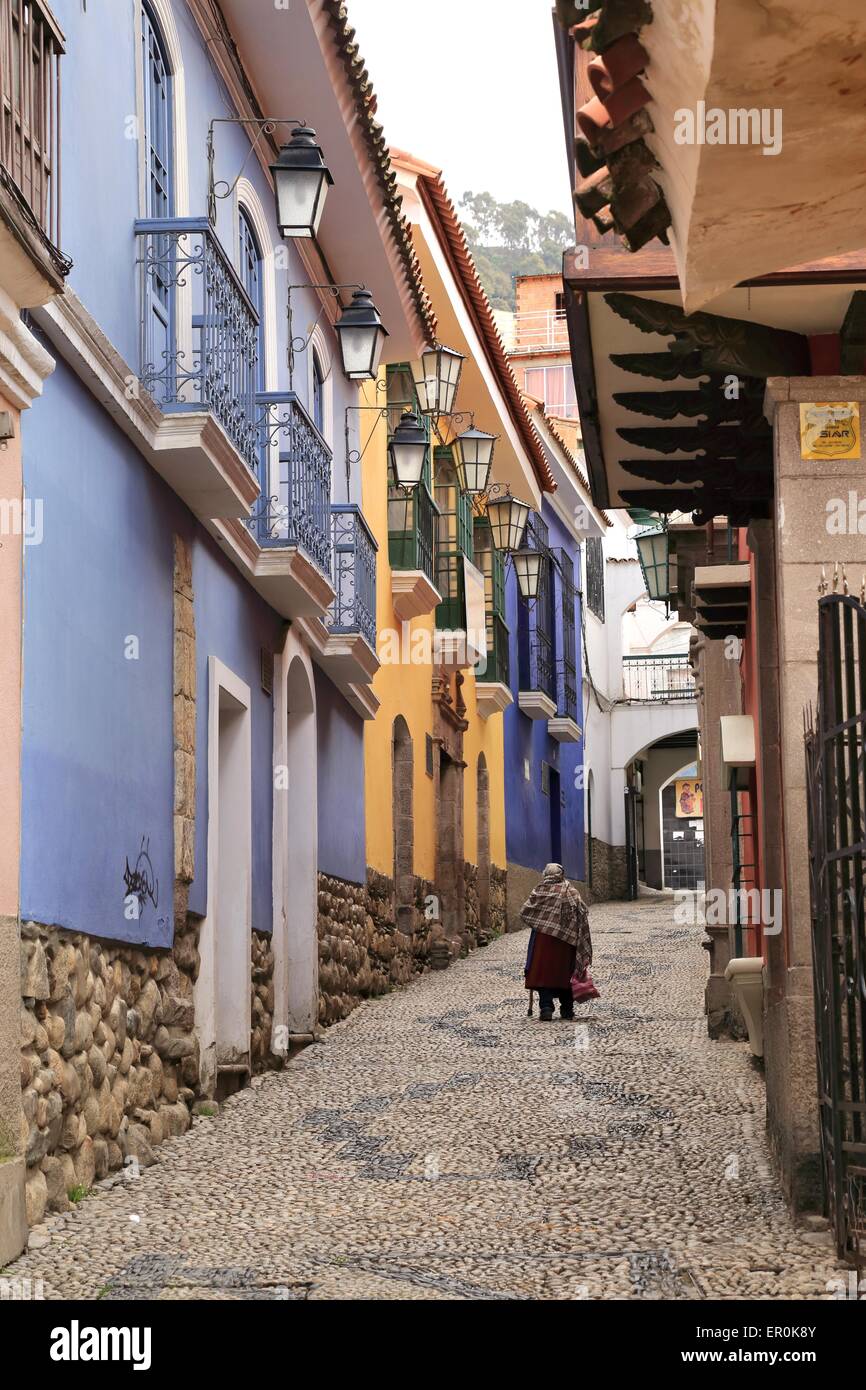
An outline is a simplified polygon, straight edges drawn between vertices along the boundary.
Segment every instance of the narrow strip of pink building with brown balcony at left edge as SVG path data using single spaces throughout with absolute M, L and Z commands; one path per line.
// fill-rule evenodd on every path
M 63 293 L 70 271 L 60 250 L 64 50 L 44 4 L 0 0 L 0 1266 L 26 1241 L 18 1042 L 21 616 L 25 563 L 44 538 L 44 509 L 25 486 L 22 420 L 33 406 L 42 409 L 54 368 L 28 316 Z

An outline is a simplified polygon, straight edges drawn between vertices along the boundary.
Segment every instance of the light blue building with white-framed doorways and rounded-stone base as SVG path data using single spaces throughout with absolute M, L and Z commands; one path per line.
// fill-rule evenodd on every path
M 56 146 L 25 175 L 0 118 L 18 495 L 17 410 L 57 361 L 21 425 L 43 510 L 24 575 L 31 1220 L 150 1161 L 196 1098 L 339 1012 L 332 924 L 364 937 L 370 920 L 363 731 L 386 543 L 345 420 L 382 346 L 403 361 L 435 332 L 338 3 L 43 10 L 0 10 L 3 43 L 25 15 L 46 63 L 65 44 L 75 126 L 57 296 Z M 10 805 L 19 552 L 0 550 Z M 7 941 L 15 840 L 7 819 Z

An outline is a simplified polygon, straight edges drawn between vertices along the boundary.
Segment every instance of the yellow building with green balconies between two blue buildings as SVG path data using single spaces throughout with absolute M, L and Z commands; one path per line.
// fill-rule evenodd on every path
M 427 420 L 425 475 L 414 495 L 389 481 L 388 436 L 417 407 L 411 371 L 389 367 L 359 411 L 363 509 L 379 549 L 379 702 L 366 727 L 367 860 L 395 883 L 398 923 L 418 915 L 450 954 L 505 930 L 502 710 L 510 703 L 496 641 L 502 559 L 460 495 L 450 439 L 474 423 L 496 435 L 493 481 L 539 505 L 544 459 L 441 175 L 392 150 L 403 208 L 439 342 L 464 357 L 453 411 Z M 474 660 L 473 634 L 487 632 Z M 499 649 L 499 651 L 498 651 Z M 441 930 L 439 930 L 441 929 Z

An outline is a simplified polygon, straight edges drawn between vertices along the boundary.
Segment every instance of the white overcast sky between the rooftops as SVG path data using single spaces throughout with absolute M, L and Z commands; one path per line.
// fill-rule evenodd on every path
M 392 145 L 489 192 L 571 217 L 552 0 L 348 0 Z

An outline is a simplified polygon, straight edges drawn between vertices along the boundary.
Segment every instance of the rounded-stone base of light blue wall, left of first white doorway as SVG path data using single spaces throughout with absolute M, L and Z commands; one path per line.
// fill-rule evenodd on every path
M 68 1193 L 189 1127 L 199 1084 L 195 934 L 174 951 L 28 922 L 21 941 L 21 1084 L 31 1225 Z M 190 949 L 192 937 L 192 949 Z

